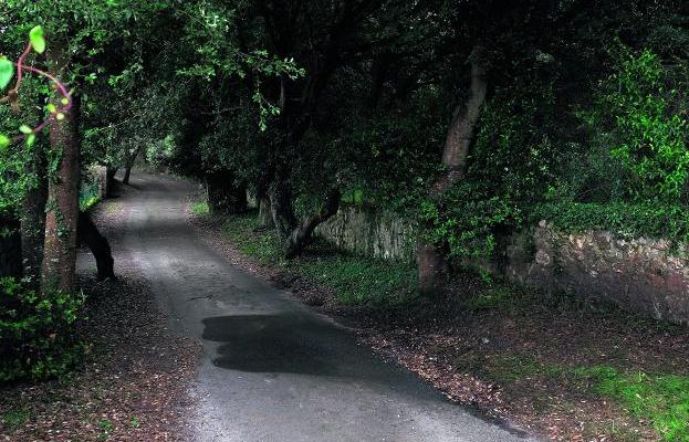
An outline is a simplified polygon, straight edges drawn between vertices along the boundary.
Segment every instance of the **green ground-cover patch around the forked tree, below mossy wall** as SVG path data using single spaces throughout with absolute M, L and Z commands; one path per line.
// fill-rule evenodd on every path
M 409 264 L 353 255 L 321 240 L 314 241 L 303 256 L 286 261 L 276 233 L 257 230 L 255 225 L 255 214 L 248 213 L 230 218 L 225 231 L 242 254 L 325 287 L 343 304 L 386 307 L 415 295 L 416 271 Z

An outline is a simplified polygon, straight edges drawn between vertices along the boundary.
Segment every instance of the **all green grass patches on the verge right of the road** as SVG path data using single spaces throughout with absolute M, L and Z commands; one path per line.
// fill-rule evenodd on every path
M 207 207 L 202 203 L 194 204 L 192 211 L 206 214 Z M 249 213 L 233 217 L 225 225 L 228 239 L 242 254 L 330 288 L 343 304 L 387 308 L 403 305 L 405 299 L 414 296 L 416 272 L 409 264 L 352 255 L 322 241 L 312 244 L 303 256 L 285 261 L 275 232 L 257 230 L 254 220 L 255 214 Z M 532 293 L 501 284 L 486 285 L 477 292 L 476 296 L 462 301 L 464 308 L 473 312 L 528 311 L 537 302 Z M 571 304 L 581 302 L 577 299 L 563 296 L 550 299 L 550 303 L 553 303 L 553 308 L 574 308 L 576 306 Z M 651 324 L 645 319 L 638 320 L 643 324 L 636 324 L 636 327 Z M 631 415 L 651 425 L 665 441 L 689 442 L 689 376 L 625 371 L 613 366 L 568 367 L 540 360 L 531 354 L 474 354 L 455 362 L 458 368 L 481 373 L 503 385 L 534 377 L 563 382 L 578 393 L 607 398 L 619 404 Z M 638 440 L 636 433 L 624 428 L 606 431 L 615 434 L 616 440 Z

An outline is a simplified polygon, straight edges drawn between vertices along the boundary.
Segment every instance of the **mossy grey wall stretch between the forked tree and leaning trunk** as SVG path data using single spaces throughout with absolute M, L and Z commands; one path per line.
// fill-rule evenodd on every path
M 413 262 L 416 232 L 399 215 L 362 207 L 343 207 L 315 234 L 357 254 Z

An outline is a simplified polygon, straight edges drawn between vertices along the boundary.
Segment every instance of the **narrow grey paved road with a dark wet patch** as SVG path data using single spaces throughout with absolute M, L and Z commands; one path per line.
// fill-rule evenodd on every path
M 449 403 L 344 327 L 232 266 L 186 220 L 196 186 L 135 175 L 118 246 L 171 327 L 199 338 L 191 433 L 201 442 L 524 441 Z

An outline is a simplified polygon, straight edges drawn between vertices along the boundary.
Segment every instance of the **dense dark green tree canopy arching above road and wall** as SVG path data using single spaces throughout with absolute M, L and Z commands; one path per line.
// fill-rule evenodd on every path
M 79 98 L 82 166 L 171 167 L 216 211 L 243 210 L 249 190 L 289 256 L 341 203 L 397 211 L 446 261 L 491 254 L 554 207 L 677 212 L 685 3 L 17 0 L 0 48 L 15 60 L 43 27 L 49 56 L 30 63 Z M 48 85 L 20 92 L 3 133 L 43 118 Z M 3 149 L 6 218 L 27 218 L 22 200 L 59 169 L 48 147 Z

